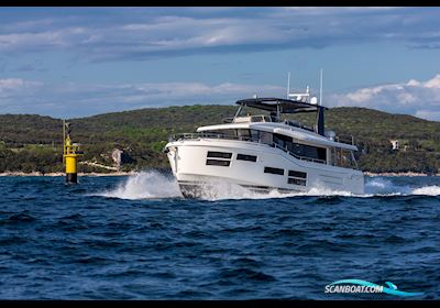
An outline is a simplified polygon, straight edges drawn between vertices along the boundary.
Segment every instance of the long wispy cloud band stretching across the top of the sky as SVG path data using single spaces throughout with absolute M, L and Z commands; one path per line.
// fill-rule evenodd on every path
M 0 51 L 88 61 L 396 42 L 440 46 L 439 8 L 99 9 L 1 26 Z M 99 16 L 99 18 L 97 18 Z

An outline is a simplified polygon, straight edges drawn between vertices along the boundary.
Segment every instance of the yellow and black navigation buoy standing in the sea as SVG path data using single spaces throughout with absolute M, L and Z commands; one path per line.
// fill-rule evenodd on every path
M 73 143 L 70 140 L 70 124 L 64 122 L 64 153 L 63 162 L 66 164 L 66 183 L 77 184 L 78 183 L 78 157 L 82 155 L 79 151 L 79 144 Z

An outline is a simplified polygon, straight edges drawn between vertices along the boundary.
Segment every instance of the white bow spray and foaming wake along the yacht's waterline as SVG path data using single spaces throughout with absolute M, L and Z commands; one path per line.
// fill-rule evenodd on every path
M 182 194 L 173 176 L 166 176 L 155 170 L 141 172 L 129 176 L 123 183 L 112 190 L 98 194 L 99 196 L 120 199 L 162 199 L 180 198 Z M 314 187 L 305 193 L 279 193 L 273 190 L 268 194 L 255 193 L 242 186 L 218 182 L 207 186 L 201 199 L 267 199 L 298 196 L 343 196 L 343 197 L 374 197 L 374 196 L 407 196 L 425 195 L 440 196 L 440 186 L 413 187 L 397 185 L 382 177 L 365 178 L 365 194 L 354 195 L 350 191 L 331 190 L 326 187 Z

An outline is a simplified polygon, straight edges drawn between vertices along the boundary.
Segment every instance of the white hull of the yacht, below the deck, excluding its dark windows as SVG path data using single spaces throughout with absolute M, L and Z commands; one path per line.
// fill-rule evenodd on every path
M 220 183 L 270 193 L 309 191 L 312 188 L 364 193 L 361 170 L 298 160 L 280 148 L 256 142 L 222 139 L 179 140 L 166 146 L 167 156 L 185 197 L 200 197 Z M 208 152 L 232 153 L 228 166 L 207 165 Z M 256 162 L 238 160 L 238 154 L 256 156 Z M 211 157 L 212 158 L 212 157 Z M 282 174 L 265 168 L 283 169 Z M 289 176 L 289 170 L 294 174 Z

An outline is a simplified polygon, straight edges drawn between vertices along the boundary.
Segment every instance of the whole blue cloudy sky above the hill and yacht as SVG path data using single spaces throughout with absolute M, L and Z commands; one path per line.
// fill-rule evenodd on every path
M 1 8 L 0 113 L 286 97 L 440 121 L 440 8 Z

